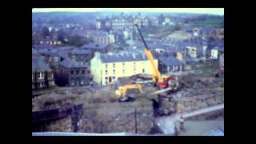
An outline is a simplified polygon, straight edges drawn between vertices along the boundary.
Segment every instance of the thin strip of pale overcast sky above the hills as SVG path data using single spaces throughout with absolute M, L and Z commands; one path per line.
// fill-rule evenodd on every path
M 161 12 L 161 13 L 198 13 L 198 14 L 224 14 L 224 8 L 34 8 L 32 12 L 95 12 L 101 10 L 113 10 L 117 12 Z

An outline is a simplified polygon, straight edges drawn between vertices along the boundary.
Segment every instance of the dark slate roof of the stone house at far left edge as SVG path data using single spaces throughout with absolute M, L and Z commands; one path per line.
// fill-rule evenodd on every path
M 50 70 L 50 66 L 46 64 L 43 57 L 32 57 L 32 71 Z

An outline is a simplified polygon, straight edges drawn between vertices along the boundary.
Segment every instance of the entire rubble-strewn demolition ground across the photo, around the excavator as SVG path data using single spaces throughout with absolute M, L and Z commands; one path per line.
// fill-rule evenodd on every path
M 214 74 L 186 74 L 178 78 L 180 90 L 170 94 L 169 100 L 160 102 L 160 106 L 171 106 L 180 112 L 224 103 L 224 78 L 214 78 Z M 119 86 L 126 82 L 119 82 Z M 78 132 L 135 133 L 135 123 L 139 134 L 154 134 L 158 131 L 157 126 L 154 126 L 154 110 L 150 100 L 154 98 L 158 101 L 158 95 L 149 96 L 157 88 L 142 85 L 144 94 L 135 102 L 124 103 L 118 102 L 118 97 L 114 94 L 116 88 L 115 85 L 58 88 L 50 94 L 32 98 L 32 111 L 84 103 L 82 117 L 78 120 Z M 47 130 L 70 130 L 68 125 L 71 124 L 66 123 L 63 128 L 59 123 L 63 122 L 50 123 Z

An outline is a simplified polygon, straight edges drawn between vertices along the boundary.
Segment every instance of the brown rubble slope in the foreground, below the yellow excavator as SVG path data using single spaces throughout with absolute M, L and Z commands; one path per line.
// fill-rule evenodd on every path
M 87 104 L 78 122 L 78 132 L 148 134 L 153 128 L 151 102 Z

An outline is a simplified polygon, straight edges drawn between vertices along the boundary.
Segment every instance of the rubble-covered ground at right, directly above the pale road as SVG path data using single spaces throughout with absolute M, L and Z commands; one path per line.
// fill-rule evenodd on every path
M 224 79 L 209 74 L 186 75 L 180 79 L 182 88 L 171 94 L 177 111 L 195 110 L 224 103 Z

